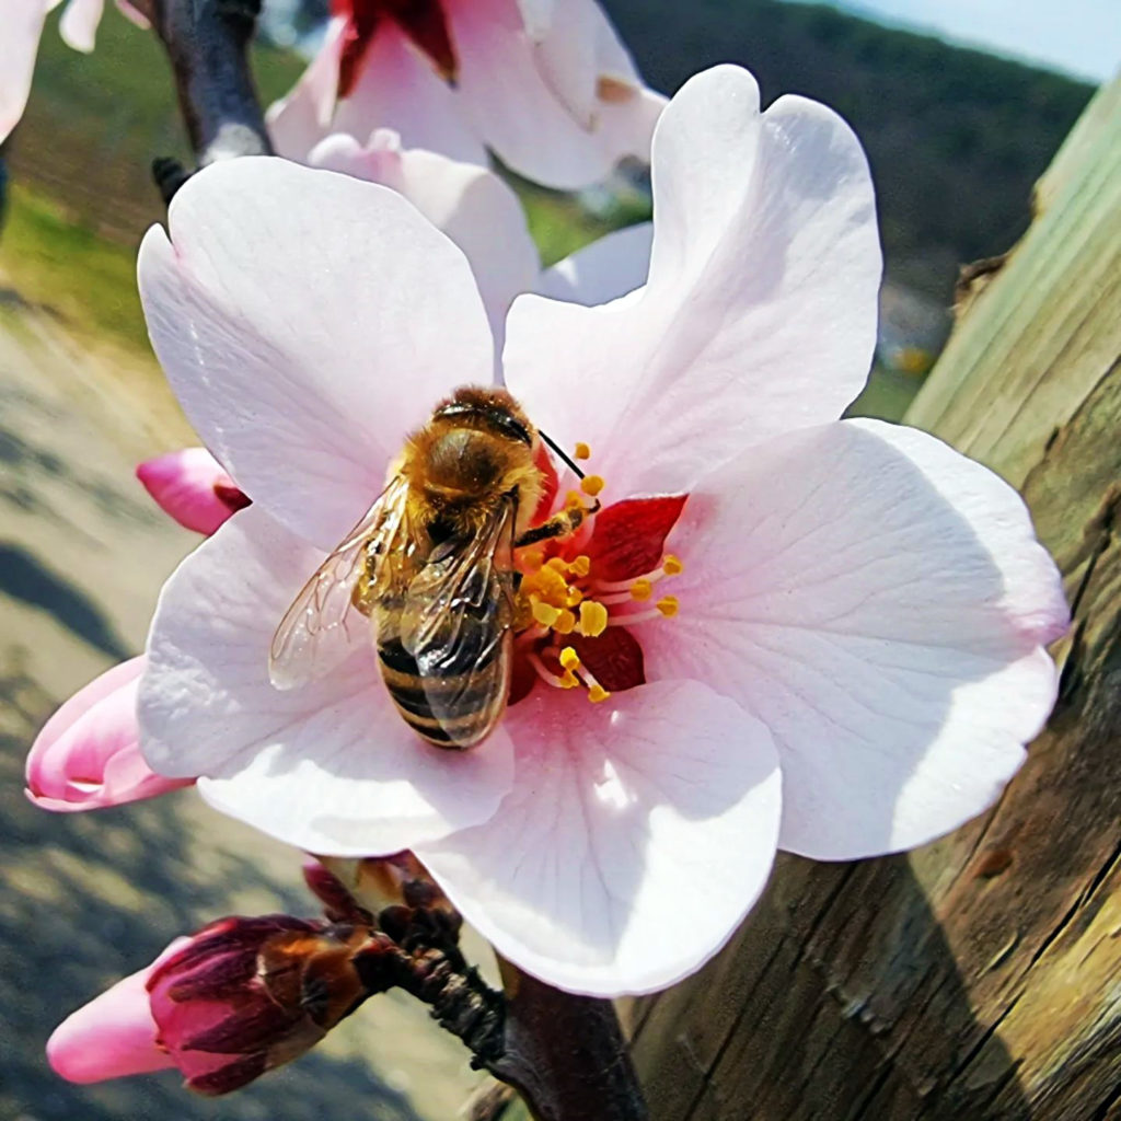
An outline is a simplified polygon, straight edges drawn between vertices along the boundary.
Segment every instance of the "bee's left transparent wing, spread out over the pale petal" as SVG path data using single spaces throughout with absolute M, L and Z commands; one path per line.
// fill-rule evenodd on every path
M 290 689 L 331 673 L 350 652 L 351 596 L 368 556 L 385 556 L 406 532 L 408 484 L 396 476 L 319 565 L 280 620 L 269 648 L 269 680 Z M 365 626 L 365 620 L 362 621 Z M 343 629 L 345 642 L 334 633 Z

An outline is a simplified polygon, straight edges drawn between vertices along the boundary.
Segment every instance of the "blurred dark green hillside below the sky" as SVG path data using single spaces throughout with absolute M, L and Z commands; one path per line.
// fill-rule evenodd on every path
M 821 4 L 603 0 L 651 85 L 748 66 L 765 103 L 832 105 L 868 150 L 889 276 L 948 302 L 956 266 L 1027 228 L 1031 185 L 1093 87 Z

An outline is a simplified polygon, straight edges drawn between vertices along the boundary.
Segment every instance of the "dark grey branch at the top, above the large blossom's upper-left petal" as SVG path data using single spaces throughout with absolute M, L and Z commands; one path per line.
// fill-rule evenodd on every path
M 261 0 L 148 0 L 146 15 L 175 74 L 179 109 L 198 167 L 231 156 L 272 154 L 249 67 Z M 189 175 L 173 159 L 152 163 L 165 203 Z

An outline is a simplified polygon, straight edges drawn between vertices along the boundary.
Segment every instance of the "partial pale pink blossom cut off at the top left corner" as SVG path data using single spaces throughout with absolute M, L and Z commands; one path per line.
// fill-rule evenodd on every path
M 19 123 L 31 91 L 35 56 L 47 13 L 59 0 L 4 0 L 3 34 L 0 35 L 0 142 Z M 70 0 L 58 22 L 58 34 L 75 50 L 89 54 L 105 0 Z M 133 22 L 146 25 L 143 17 L 126 0 L 120 10 Z

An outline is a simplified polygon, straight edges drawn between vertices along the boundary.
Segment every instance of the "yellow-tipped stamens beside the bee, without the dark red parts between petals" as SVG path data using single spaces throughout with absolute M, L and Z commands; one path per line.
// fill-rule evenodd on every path
M 576 458 L 590 455 L 586 444 L 576 445 Z M 564 509 L 582 512 L 580 529 L 547 541 L 544 548 L 525 548 L 518 556 L 519 647 L 548 685 L 583 687 L 593 703 L 605 701 L 611 693 L 566 638 L 595 639 L 610 627 L 671 619 L 678 611 L 677 597 L 663 595 L 655 600 L 655 585 L 684 569 L 678 557 L 666 554 L 655 569 L 634 578 L 612 582 L 597 577 L 593 554 L 600 503 L 586 499 L 594 500 L 605 485 L 600 475 L 584 476 L 580 490 L 568 491 L 563 502 Z

